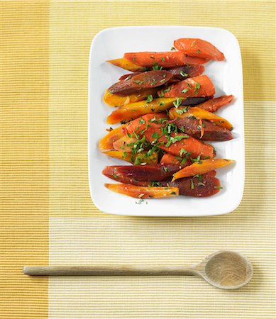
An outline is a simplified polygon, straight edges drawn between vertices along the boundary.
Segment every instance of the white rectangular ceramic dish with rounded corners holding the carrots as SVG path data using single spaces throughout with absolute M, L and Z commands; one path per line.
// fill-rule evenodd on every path
M 209 62 L 207 74 L 216 86 L 216 96 L 236 96 L 231 106 L 219 115 L 233 124 L 233 140 L 211 142 L 220 158 L 235 159 L 231 169 L 218 169 L 217 177 L 223 189 L 208 198 L 177 196 L 145 200 L 116 194 L 104 183 L 116 183 L 103 174 L 106 165 L 128 164 L 101 154 L 99 140 L 106 134 L 106 117 L 113 108 L 102 102 L 106 88 L 129 73 L 106 60 L 123 57 L 124 52 L 169 51 L 177 38 L 201 38 L 221 50 L 226 61 Z M 115 127 L 115 125 L 113 125 Z M 243 123 L 243 72 L 241 51 L 236 37 L 221 28 L 193 26 L 130 26 L 101 30 L 91 45 L 89 57 L 89 186 L 97 208 L 106 213 L 127 216 L 214 216 L 230 213 L 241 203 L 243 196 L 245 158 Z

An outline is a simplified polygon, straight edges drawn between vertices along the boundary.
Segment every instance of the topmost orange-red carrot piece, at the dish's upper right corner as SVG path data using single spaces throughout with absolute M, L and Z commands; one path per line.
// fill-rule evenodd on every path
M 202 57 L 211 60 L 224 60 L 224 55 L 208 41 L 195 38 L 182 38 L 174 41 L 174 46 L 180 52 L 191 57 Z

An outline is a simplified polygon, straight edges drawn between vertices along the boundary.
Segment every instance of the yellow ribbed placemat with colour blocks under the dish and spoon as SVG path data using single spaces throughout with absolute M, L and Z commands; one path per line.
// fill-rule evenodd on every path
M 275 2 L 1 1 L 2 318 L 274 318 Z M 87 177 L 89 46 L 103 28 L 216 26 L 241 45 L 245 192 L 211 218 L 101 213 Z M 161 39 L 162 40 L 162 39 Z M 3 142 L 2 142 L 3 141 Z M 48 247 L 50 245 L 50 247 Z M 28 278 L 23 264 L 189 264 L 248 255 L 253 280 Z

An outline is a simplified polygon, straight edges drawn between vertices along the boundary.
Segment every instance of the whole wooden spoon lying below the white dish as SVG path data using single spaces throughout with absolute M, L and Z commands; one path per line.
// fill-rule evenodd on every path
M 144 266 L 25 266 L 31 276 L 182 276 L 202 277 L 221 289 L 238 289 L 250 281 L 253 266 L 245 256 L 231 250 L 219 250 L 191 267 Z

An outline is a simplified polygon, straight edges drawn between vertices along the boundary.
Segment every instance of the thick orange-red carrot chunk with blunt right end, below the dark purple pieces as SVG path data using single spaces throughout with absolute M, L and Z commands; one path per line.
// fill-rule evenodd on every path
M 199 77 L 189 77 L 184 81 L 177 82 L 168 86 L 164 91 L 158 91 L 158 95 L 164 94 L 165 97 L 194 97 L 212 96 L 216 93 L 214 84 L 209 77 L 201 75 Z

